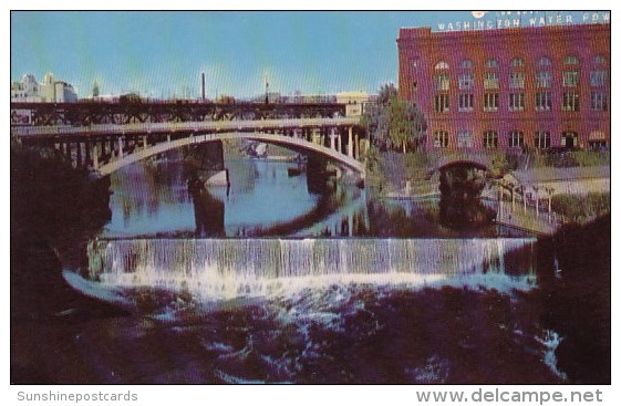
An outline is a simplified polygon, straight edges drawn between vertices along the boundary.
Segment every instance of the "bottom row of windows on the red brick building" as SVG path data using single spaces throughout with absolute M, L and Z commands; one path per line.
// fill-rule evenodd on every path
M 606 137 L 602 132 L 593 132 L 589 137 L 590 147 L 606 147 Z M 563 132 L 560 138 L 561 146 L 573 148 L 578 146 L 579 138 L 577 132 Z M 435 148 L 448 148 L 448 132 L 436 131 L 434 132 L 433 145 Z M 489 129 L 483 132 L 482 145 L 484 148 L 498 147 L 498 132 Z M 521 148 L 526 146 L 524 132 L 513 131 L 507 134 L 507 145 L 509 148 Z M 472 148 L 475 146 L 475 139 L 472 131 L 462 131 L 457 133 L 457 148 Z M 546 149 L 551 146 L 550 132 L 538 131 L 535 132 L 534 145 L 535 148 Z

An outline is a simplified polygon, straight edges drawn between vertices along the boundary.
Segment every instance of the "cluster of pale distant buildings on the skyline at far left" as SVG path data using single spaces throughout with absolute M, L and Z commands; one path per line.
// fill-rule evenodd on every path
M 37 82 L 32 74 L 22 76 L 21 82 L 11 83 L 11 102 L 72 103 L 77 101 L 73 86 L 63 81 L 54 81 L 51 73 L 45 74 L 43 83 Z

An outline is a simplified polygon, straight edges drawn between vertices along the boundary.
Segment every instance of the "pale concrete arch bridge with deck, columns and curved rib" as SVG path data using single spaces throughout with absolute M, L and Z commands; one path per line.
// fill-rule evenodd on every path
M 362 179 L 365 175 L 355 117 L 14 126 L 11 134 L 23 144 L 60 149 L 74 166 L 99 176 L 167 150 L 225 139 L 284 146 L 333 162 Z

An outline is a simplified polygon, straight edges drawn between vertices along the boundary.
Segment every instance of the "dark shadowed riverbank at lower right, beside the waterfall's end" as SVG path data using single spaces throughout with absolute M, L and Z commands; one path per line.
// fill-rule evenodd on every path
M 610 385 L 611 217 L 565 225 L 540 238 L 535 296 L 546 309 L 541 324 L 560 335 L 558 367 L 568 383 Z

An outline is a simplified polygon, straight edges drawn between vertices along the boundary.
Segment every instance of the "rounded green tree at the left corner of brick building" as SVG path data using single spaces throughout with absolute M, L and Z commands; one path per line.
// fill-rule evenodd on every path
M 368 106 L 361 117 L 371 142 L 380 149 L 417 149 L 424 140 L 426 128 L 423 114 L 402 98 L 394 84 L 380 89 L 375 103 Z

